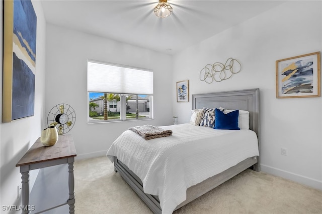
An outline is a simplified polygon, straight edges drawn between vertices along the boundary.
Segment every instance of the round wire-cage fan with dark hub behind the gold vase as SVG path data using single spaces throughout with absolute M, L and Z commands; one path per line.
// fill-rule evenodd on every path
M 72 129 L 76 121 L 74 109 L 66 104 L 61 103 L 54 106 L 47 117 L 48 126 L 55 126 L 58 134 L 66 134 Z

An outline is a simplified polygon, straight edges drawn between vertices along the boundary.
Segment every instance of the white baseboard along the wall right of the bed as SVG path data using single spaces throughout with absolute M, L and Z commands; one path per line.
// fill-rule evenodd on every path
M 322 190 L 322 181 L 261 164 L 261 171 Z

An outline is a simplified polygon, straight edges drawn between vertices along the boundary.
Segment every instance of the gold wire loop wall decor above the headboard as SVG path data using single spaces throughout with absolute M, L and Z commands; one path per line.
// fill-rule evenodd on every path
M 221 82 L 232 77 L 233 74 L 237 74 L 241 70 L 241 64 L 238 60 L 228 58 L 225 64 L 216 62 L 214 64 L 207 64 L 200 71 L 200 81 L 206 83 Z

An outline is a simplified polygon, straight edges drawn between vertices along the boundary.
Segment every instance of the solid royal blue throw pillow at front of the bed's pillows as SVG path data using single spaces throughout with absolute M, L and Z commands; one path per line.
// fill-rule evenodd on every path
M 215 109 L 215 125 L 214 129 L 231 129 L 239 130 L 238 127 L 238 115 L 239 111 L 235 110 L 227 114 L 223 113 L 219 109 Z

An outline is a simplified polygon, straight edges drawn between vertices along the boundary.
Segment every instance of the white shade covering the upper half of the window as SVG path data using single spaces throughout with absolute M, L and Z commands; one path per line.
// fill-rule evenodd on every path
M 153 95 L 153 72 L 89 60 L 87 91 Z

